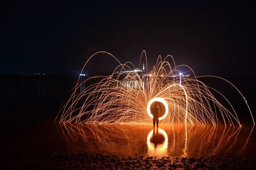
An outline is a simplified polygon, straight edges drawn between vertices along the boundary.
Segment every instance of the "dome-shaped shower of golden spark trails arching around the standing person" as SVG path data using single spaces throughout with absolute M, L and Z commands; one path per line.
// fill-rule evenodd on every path
M 93 76 L 87 80 L 77 80 L 74 92 L 56 117 L 60 122 L 99 123 L 99 124 L 151 124 L 147 106 L 152 99 L 164 99 L 168 113 L 161 120 L 162 124 L 180 125 L 241 125 L 234 107 L 218 90 L 207 87 L 200 77 L 214 77 L 232 85 L 244 100 L 243 94 L 232 84 L 218 76 L 196 76 L 186 65 L 176 66 L 172 55 L 164 59 L 158 57 L 152 71 L 147 73 L 147 55 L 143 51 L 141 59 L 145 58 L 145 73 L 139 73 L 131 62 L 121 64 L 115 56 L 108 52 L 97 52 L 95 55 L 109 55 L 118 61 L 119 65 L 110 76 Z M 83 73 L 84 68 L 81 71 Z M 140 67 L 140 65 L 139 65 Z M 193 74 L 182 77 L 180 67 L 186 67 Z M 132 71 L 135 70 L 135 71 Z M 97 83 L 92 83 L 97 80 Z M 91 83 L 90 83 L 91 82 Z M 130 82 L 127 85 L 127 82 Z M 80 87 L 85 87 L 80 92 Z M 220 103 L 212 92 L 220 95 L 228 106 Z M 246 102 L 245 102 L 246 103 Z M 252 111 L 246 103 L 253 120 Z

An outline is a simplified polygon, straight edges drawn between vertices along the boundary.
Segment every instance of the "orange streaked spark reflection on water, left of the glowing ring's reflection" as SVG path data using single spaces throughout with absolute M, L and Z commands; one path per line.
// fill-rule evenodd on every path
M 113 124 L 60 124 L 68 145 L 78 152 L 127 153 L 140 150 L 141 136 L 136 131 L 140 127 Z M 134 139 L 133 139 L 134 138 Z

